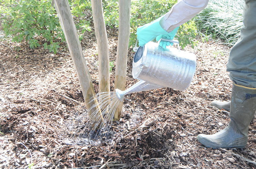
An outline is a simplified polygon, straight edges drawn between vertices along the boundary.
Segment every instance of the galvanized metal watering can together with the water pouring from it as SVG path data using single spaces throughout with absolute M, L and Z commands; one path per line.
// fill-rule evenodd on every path
M 177 42 L 172 41 L 172 43 Z M 169 46 L 163 49 L 154 42 L 149 42 L 144 47 L 138 47 L 133 58 L 132 76 L 140 81 L 124 91 L 116 89 L 114 92 L 110 92 L 110 101 L 106 97 L 109 92 L 97 96 L 104 123 L 96 121 L 96 125 L 88 134 L 89 137 L 92 138 L 93 135 L 96 135 L 94 137 L 94 140 L 96 140 L 108 133 L 113 115 L 118 105 L 122 104 L 126 94 L 163 87 L 183 91 L 192 81 L 195 70 L 196 55 L 193 53 Z M 92 115 L 97 116 L 98 113 L 94 112 Z M 97 130 L 97 127 L 99 130 Z

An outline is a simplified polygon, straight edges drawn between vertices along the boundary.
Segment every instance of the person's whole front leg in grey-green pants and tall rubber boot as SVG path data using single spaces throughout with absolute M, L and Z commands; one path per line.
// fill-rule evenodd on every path
M 212 135 L 199 134 L 206 147 L 245 147 L 248 127 L 256 111 L 256 0 L 246 0 L 244 26 L 230 52 L 227 71 L 234 85 L 230 104 L 230 123 Z

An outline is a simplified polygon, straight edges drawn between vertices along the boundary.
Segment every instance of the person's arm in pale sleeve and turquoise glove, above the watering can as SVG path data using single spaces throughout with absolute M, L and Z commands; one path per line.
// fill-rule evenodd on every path
M 203 10 L 207 6 L 208 1 L 209 0 L 179 0 L 168 13 L 149 24 L 137 28 L 139 45 L 143 46 L 157 36 L 173 39 L 178 30 L 177 27 Z M 169 44 L 165 43 L 163 47 Z

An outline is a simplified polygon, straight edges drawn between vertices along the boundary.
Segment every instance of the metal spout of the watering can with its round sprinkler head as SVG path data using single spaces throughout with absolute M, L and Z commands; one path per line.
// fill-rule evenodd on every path
M 147 91 L 147 90 L 152 90 L 152 89 L 159 89 L 162 87 L 163 86 L 149 84 L 146 81 L 140 80 L 137 83 L 135 83 L 134 85 L 132 85 L 130 88 L 128 88 L 124 91 L 115 89 L 115 92 L 117 94 L 118 99 L 122 102 L 124 100 L 124 96 L 126 94 L 140 92 L 140 91 Z

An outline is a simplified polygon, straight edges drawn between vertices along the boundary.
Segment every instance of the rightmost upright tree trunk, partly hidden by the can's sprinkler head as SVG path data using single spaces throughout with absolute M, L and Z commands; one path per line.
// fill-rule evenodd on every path
M 130 37 L 130 8 L 131 0 L 119 0 L 119 34 L 117 45 L 117 61 L 115 89 L 125 90 L 128 44 Z M 114 120 L 119 120 L 123 103 L 118 105 Z

